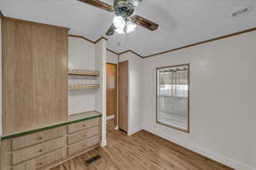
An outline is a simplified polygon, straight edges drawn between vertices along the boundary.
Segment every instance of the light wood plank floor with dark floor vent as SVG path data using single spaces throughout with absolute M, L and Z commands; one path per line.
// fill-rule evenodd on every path
M 100 155 L 89 165 L 84 161 Z M 108 122 L 108 146 L 62 163 L 51 170 L 231 170 L 216 161 L 186 150 L 177 144 L 141 131 L 131 137 L 113 130 Z

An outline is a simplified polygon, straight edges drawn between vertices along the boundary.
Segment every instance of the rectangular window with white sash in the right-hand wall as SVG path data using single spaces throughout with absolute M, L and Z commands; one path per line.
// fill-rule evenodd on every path
M 156 71 L 156 122 L 189 133 L 189 64 Z

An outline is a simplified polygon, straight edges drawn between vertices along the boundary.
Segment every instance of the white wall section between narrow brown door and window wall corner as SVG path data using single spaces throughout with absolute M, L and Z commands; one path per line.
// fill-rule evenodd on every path
M 119 55 L 129 61 L 128 135 L 143 129 L 143 59 L 131 52 Z

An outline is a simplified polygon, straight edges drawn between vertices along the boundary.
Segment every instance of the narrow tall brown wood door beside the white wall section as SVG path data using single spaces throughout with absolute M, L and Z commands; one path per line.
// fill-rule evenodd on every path
M 128 61 L 119 63 L 119 128 L 128 131 Z

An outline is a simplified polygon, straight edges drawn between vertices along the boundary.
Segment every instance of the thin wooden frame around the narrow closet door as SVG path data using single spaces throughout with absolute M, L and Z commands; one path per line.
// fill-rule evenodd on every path
M 129 92 L 130 92 L 130 88 L 129 88 L 129 82 L 130 82 L 130 74 L 129 74 L 129 60 L 124 60 L 124 61 L 120 61 L 120 63 L 125 63 L 127 62 L 127 96 L 128 96 L 128 99 L 127 99 L 127 116 L 126 116 L 126 121 L 127 121 L 127 132 L 125 132 L 124 130 L 120 129 L 119 127 L 119 65 L 118 65 L 118 119 L 117 119 L 117 124 L 118 124 L 118 128 L 119 130 L 122 130 L 123 132 L 127 133 L 128 134 L 128 131 L 129 131 L 129 99 L 130 99 L 130 95 L 129 95 Z

